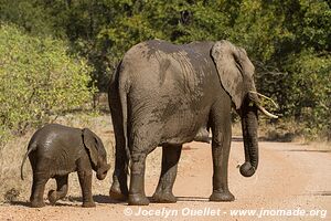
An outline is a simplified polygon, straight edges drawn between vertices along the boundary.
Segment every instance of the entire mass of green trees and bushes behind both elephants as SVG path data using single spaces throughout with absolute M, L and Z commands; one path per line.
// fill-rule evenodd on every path
M 330 24 L 323 0 L 1 1 L 0 143 L 92 104 L 122 54 L 154 38 L 245 48 L 257 90 L 279 104 L 271 110 L 281 119 L 266 124 L 330 140 Z

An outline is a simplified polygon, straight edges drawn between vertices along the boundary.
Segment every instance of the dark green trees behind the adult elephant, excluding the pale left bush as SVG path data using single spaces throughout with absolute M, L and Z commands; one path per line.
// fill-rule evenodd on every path
M 246 49 L 258 91 L 280 104 L 278 114 L 331 138 L 327 0 L 3 0 L 0 18 L 29 34 L 68 40 L 100 91 L 138 42 L 228 39 Z

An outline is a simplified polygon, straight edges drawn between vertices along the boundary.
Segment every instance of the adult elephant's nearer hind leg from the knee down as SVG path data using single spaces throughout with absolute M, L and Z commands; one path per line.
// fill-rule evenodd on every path
M 146 167 L 146 152 L 132 151 L 131 155 L 131 179 L 129 190 L 129 204 L 132 206 L 147 206 L 149 200 L 145 193 L 145 167 Z

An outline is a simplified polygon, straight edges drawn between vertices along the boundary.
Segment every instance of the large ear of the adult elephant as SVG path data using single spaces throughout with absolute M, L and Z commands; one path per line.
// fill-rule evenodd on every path
M 254 66 L 245 50 L 223 40 L 214 44 L 211 55 L 216 65 L 221 84 L 232 97 L 236 109 L 241 108 L 248 91 L 255 90 Z

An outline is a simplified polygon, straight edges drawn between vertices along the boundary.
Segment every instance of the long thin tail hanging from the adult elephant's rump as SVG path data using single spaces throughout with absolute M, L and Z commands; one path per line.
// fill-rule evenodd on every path
M 117 71 L 119 72 L 121 69 L 121 63 L 118 65 Z M 128 102 L 127 102 L 127 94 L 128 94 L 128 85 L 126 81 L 126 73 L 122 72 L 119 77 L 119 99 L 121 106 L 121 114 L 122 114 L 122 134 L 124 134 L 124 147 L 126 151 L 126 172 L 130 173 L 130 164 L 131 164 L 131 154 L 129 148 L 129 140 L 128 140 Z

